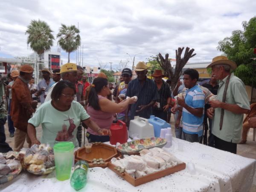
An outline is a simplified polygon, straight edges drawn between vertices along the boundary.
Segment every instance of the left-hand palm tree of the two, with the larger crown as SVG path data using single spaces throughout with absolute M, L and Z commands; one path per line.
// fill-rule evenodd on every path
M 27 44 L 41 60 L 41 54 L 51 49 L 54 40 L 49 25 L 41 20 L 31 20 L 25 34 L 28 34 Z

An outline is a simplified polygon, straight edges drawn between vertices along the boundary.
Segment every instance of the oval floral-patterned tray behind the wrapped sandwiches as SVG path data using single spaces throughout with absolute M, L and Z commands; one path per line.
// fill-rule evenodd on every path
M 117 150 L 122 154 L 139 154 L 139 151 L 143 149 L 150 149 L 154 147 L 162 148 L 166 145 L 167 140 L 161 137 L 151 137 L 140 140 L 134 140 L 131 142 L 124 143 L 122 145 L 117 146 Z

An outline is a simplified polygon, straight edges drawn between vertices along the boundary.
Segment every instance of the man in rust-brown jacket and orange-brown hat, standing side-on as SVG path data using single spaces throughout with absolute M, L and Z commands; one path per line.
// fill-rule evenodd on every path
M 31 92 L 28 83 L 32 78 L 34 69 L 26 64 L 20 67 L 20 76 L 12 85 L 12 121 L 16 128 L 14 134 L 14 150 L 20 151 L 23 148 L 25 140 L 31 145 L 31 140 L 27 134 L 28 120 L 35 112 L 37 101 L 32 101 Z

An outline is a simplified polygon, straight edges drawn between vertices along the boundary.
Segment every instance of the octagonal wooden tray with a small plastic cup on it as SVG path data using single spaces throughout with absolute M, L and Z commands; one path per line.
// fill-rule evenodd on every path
M 89 164 L 89 167 L 102 167 L 105 168 L 108 166 L 108 162 L 113 157 L 121 157 L 122 155 L 115 147 L 107 145 L 104 143 L 96 143 L 92 146 L 91 153 L 85 153 L 85 147 L 79 148 L 75 153 L 75 163 L 79 160 L 86 160 Z M 104 164 L 93 164 L 93 159 L 102 158 L 105 162 Z

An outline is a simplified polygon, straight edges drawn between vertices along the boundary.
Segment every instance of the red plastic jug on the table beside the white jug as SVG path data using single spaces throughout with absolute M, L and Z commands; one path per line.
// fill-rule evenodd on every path
M 116 145 L 116 143 L 126 143 L 128 140 L 128 131 L 125 122 L 120 120 L 113 120 L 113 123 L 110 127 L 111 136 L 110 144 Z

